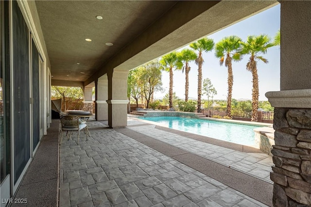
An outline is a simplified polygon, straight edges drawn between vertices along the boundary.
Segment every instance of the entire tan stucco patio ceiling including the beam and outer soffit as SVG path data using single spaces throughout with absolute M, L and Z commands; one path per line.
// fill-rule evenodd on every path
M 52 80 L 84 85 L 108 70 L 135 68 L 275 4 L 275 0 L 35 1 Z

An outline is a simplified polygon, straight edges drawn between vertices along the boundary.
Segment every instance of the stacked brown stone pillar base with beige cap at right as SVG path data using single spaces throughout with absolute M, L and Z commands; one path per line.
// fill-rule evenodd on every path
M 311 89 L 266 93 L 275 107 L 275 207 L 311 206 Z

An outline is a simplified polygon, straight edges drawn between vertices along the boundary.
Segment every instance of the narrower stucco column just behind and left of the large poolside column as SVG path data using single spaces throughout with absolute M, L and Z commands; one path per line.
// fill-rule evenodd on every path
M 95 119 L 108 120 L 108 79 L 107 75 L 95 80 Z

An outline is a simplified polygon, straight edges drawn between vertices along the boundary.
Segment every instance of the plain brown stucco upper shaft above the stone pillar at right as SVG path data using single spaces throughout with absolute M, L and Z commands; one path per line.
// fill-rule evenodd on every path
M 311 1 L 280 1 L 280 88 L 311 89 Z

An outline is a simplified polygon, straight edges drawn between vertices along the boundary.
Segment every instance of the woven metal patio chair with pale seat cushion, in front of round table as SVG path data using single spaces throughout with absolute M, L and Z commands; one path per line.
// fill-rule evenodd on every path
M 60 139 L 59 144 L 62 143 L 64 131 L 67 132 L 68 140 L 71 137 L 72 131 L 77 131 L 78 132 L 78 143 L 77 144 L 79 144 L 80 131 L 81 129 L 84 129 L 86 133 L 86 140 L 87 140 L 86 121 L 82 121 L 78 116 L 65 114 L 60 117 L 60 123 L 61 123 L 61 127 L 60 127 L 61 139 Z

